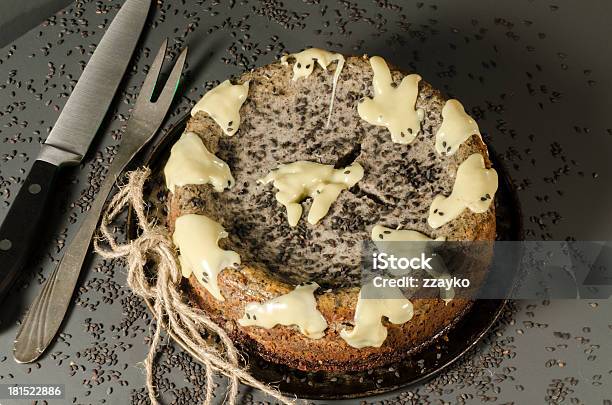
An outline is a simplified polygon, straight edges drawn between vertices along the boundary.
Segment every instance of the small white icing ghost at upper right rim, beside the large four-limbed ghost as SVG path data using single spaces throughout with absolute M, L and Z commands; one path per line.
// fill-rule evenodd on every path
M 480 135 L 478 124 L 458 100 L 448 100 L 442 108 L 442 125 L 436 132 L 436 151 L 452 155 L 472 135 Z

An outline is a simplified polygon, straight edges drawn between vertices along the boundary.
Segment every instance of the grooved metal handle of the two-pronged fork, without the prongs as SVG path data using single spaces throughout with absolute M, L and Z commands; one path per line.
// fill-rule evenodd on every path
M 87 256 L 91 238 L 106 197 L 130 156 L 118 153 L 79 230 L 66 248 L 64 256 L 36 297 L 15 338 L 14 357 L 19 363 L 36 360 L 49 346 L 59 330 Z

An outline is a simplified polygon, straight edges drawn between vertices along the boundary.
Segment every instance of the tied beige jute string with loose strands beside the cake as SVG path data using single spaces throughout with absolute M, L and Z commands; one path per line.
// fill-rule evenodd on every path
M 240 381 L 263 391 L 281 403 L 294 403 L 294 399 L 283 396 L 278 390 L 257 380 L 241 367 L 236 347 L 225 330 L 213 322 L 204 311 L 185 301 L 179 287 L 182 274 L 172 238 L 165 227 L 149 222 L 145 214 L 143 187 L 150 173 L 149 168 L 142 168 L 128 174 L 127 184 L 119 187 L 119 192 L 104 211 L 100 224 L 101 236 L 94 239 L 94 249 L 106 259 L 126 260 L 128 286 L 136 295 L 152 304 L 157 322 L 149 353 L 144 362 L 151 403 L 159 404 L 153 367 L 164 328 L 175 338 L 180 339 L 191 350 L 192 355 L 204 365 L 206 370 L 204 404 L 212 403 L 215 373 L 220 373 L 229 380 L 226 401 L 230 405 L 236 403 Z M 121 244 L 115 238 L 111 223 L 130 205 L 136 214 L 141 234 L 138 238 Z M 145 274 L 145 266 L 151 260 L 156 263 L 157 277 L 154 280 Z M 209 344 L 203 333 L 218 336 L 221 348 L 216 344 Z

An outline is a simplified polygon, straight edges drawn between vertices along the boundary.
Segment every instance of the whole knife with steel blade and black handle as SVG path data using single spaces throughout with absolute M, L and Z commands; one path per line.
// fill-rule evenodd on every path
M 0 225 L 0 302 L 26 264 L 60 167 L 78 164 L 115 95 L 151 0 L 127 0 L 96 47 Z

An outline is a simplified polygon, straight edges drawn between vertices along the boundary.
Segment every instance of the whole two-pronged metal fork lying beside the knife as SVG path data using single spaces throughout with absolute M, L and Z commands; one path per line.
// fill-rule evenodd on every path
M 119 151 L 113 158 L 97 198 L 87 212 L 72 242 L 67 247 L 64 257 L 45 283 L 23 320 L 15 338 L 14 348 L 15 360 L 19 363 L 30 363 L 36 360 L 49 346 L 59 330 L 70 304 L 83 261 L 87 256 L 91 238 L 98 224 L 106 197 L 113 188 L 117 176 L 157 132 L 170 108 L 185 64 L 187 48 L 178 56 L 160 96 L 155 102 L 151 102 L 166 54 L 167 44 L 168 40 L 166 39 L 144 80 L 136 99 L 134 112 L 123 134 Z M 83 119 L 87 119 L 87 117 L 83 117 Z

